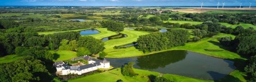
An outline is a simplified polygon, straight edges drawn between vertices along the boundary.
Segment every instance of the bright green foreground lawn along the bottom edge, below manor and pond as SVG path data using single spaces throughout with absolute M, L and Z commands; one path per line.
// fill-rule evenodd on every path
M 127 77 L 123 76 L 121 74 L 121 69 L 113 69 L 110 71 L 89 75 L 82 78 L 77 79 L 71 79 L 68 82 L 116 82 L 117 80 L 121 79 L 124 82 L 148 82 L 149 79 L 147 76 L 149 75 L 155 75 L 160 76 L 160 73 L 158 72 L 151 72 L 147 70 L 140 70 L 140 69 L 134 69 L 135 73 L 138 74 L 138 76 L 135 77 Z M 207 81 L 207 80 L 198 80 L 178 75 L 172 75 L 172 74 L 164 74 L 163 77 L 167 79 L 173 78 L 175 82 L 213 82 L 213 81 Z

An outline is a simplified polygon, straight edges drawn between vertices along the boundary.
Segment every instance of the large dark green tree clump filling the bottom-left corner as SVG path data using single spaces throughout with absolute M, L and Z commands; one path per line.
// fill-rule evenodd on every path
M 46 67 L 32 56 L 0 64 L 0 82 L 51 82 Z

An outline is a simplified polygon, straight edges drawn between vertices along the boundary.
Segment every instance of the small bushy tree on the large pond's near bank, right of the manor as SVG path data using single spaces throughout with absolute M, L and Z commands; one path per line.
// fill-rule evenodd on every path
M 121 68 L 121 73 L 123 76 L 135 76 L 135 72 L 133 70 L 133 64 L 134 62 L 129 62 L 128 64 L 125 64 L 122 68 Z

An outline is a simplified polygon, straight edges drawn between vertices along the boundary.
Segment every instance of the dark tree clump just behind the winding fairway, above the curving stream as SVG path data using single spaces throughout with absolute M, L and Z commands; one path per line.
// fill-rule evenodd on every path
M 101 26 L 106 27 L 110 31 L 124 31 L 124 23 L 116 21 L 102 21 Z

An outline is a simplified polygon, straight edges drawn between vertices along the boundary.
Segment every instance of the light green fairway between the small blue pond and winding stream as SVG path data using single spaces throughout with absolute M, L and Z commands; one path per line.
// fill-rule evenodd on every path
M 89 36 L 93 36 L 96 39 L 102 39 L 104 37 L 108 37 L 108 36 L 112 36 L 112 35 L 117 34 L 116 32 L 107 30 L 107 28 L 96 28 L 96 29 L 99 30 L 100 33 L 99 34 L 94 34 L 94 35 L 89 35 Z

